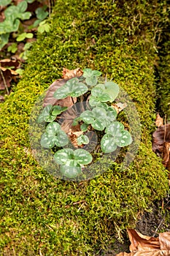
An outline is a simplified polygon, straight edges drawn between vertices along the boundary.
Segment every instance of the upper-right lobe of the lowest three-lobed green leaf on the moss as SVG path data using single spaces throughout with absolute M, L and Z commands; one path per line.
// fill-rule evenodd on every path
M 80 164 L 80 165 L 88 165 L 92 161 L 93 157 L 91 154 L 86 151 L 85 149 L 76 149 L 74 151 L 74 159 Z

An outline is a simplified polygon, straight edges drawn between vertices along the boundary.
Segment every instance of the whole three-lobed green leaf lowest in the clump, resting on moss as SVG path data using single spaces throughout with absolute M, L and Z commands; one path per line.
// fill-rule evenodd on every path
M 61 165 L 60 171 L 67 178 L 75 178 L 82 173 L 81 165 L 92 161 L 91 154 L 84 149 L 63 148 L 54 154 L 55 162 Z

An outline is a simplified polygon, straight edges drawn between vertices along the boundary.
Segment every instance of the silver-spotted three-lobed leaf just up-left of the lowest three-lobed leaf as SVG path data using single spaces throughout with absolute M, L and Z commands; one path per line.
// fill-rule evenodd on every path
M 51 122 L 47 125 L 40 141 L 43 148 L 62 147 L 66 146 L 68 142 L 69 139 L 66 133 L 62 131 L 60 124 L 56 122 Z

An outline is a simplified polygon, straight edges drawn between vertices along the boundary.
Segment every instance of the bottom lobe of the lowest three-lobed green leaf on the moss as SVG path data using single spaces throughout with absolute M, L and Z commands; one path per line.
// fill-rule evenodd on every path
M 82 173 L 82 167 L 74 160 L 70 160 L 66 165 L 61 165 L 61 174 L 67 178 L 76 178 Z

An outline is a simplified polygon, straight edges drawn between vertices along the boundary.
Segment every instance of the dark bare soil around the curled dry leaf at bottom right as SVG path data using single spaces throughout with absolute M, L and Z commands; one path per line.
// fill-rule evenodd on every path
M 158 233 L 170 232 L 170 195 L 161 201 L 153 203 L 148 211 L 140 217 L 135 228 L 139 233 L 145 236 L 157 237 Z M 127 234 L 123 237 L 124 243 L 116 241 L 110 244 L 106 251 L 101 250 L 95 256 L 116 256 L 120 252 L 130 252 L 129 246 L 131 242 Z

